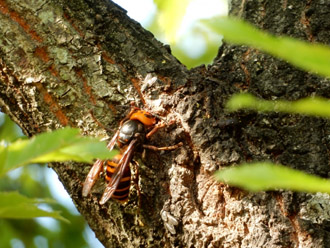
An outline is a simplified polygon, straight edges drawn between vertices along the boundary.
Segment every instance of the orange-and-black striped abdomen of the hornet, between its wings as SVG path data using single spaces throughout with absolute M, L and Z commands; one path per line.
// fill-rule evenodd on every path
M 118 162 L 121 159 L 121 155 L 117 154 L 113 159 L 106 161 L 106 176 L 105 179 L 109 182 L 116 168 L 118 167 Z M 128 200 L 129 189 L 131 186 L 131 170 L 129 166 L 126 167 L 122 178 L 118 184 L 116 191 L 113 193 L 113 199 L 120 201 L 122 203 Z

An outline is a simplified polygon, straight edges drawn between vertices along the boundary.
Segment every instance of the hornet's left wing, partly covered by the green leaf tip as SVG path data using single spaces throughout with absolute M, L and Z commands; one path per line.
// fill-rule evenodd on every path
M 112 137 L 110 140 L 109 144 L 107 145 L 107 148 L 111 151 L 117 141 L 117 137 L 119 135 L 119 130 L 115 133 L 115 135 Z M 85 182 L 83 184 L 83 190 L 82 190 L 82 195 L 86 197 L 88 193 L 91 191 L 92 187 L 94 186 L 95 182 L 99 178 L 99 175 L 103 169 L 103 160 L 96 160 L 95 163 L 93 164 L 92 168 L 88 172 L 88 175 L 85 179 Z

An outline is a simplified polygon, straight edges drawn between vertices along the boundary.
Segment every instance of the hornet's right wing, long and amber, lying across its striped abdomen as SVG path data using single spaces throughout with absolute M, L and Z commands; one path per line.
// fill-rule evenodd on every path
M 113 193 L 116 191 L 120 179 L 123 177 L 124 171 L 126 167 L 129 165 L 131 162 L 131 159 L 134 154 L 135 146 L 136 146 L 137 140 L 132 140 L 127 149 L 125 150 L 122 158 L 118 162 L 118 166 L 116 170 L 114 171 L 110 182 L 106 186 L 104 193 L 102 195 L 102 198 L 100 200 L 100 204 L 103 205 L 106 203 L 113 195 Z

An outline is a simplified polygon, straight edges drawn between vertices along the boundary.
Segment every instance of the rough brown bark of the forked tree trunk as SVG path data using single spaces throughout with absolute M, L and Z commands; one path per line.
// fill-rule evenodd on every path
M 325 44 L 329 12 L 322 0 L 235 0 L 231 10 L 273 34 Z M 158 80 L 143 80 L 147 74 Z M 176 121 L 150 143 L 184 146 L 148 151 L 140 166 L 139 214 L 134 189 L 126 206 L 100 206 L 97 190 L 81 196 L 89 165 L 52 165 L 106 247 L 330 247 L 328 196 L 253 194 L 213 180 L 219 168 L 258 160 L 329 176 L 328 121 L 224 112 L 239 91 L 264 99 L 330 98 L 330 83 L 227 44 L 212 65 L 188 71 L 108 1 L 0 0 L 0 105 L 27 135 L 70 125 L 105 136 L 95 119 L 115 130 L 132 100 Z

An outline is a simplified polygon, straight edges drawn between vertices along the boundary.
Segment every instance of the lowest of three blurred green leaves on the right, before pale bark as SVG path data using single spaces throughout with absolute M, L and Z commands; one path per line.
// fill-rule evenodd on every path
M 330 180 L 270 162 L 243 164 L 215 173 L 215 178 L 250 191 L 287 189 L 330 193 Z

